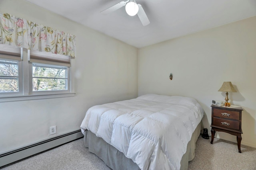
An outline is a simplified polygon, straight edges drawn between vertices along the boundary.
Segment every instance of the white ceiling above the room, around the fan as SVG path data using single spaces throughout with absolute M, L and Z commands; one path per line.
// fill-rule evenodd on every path
M 27 1 L 138 48 L 256 16 L 256 0 L 137 0 L 150 20 L 143 26 L 125 7 L 100 13 L 122 0 Z

